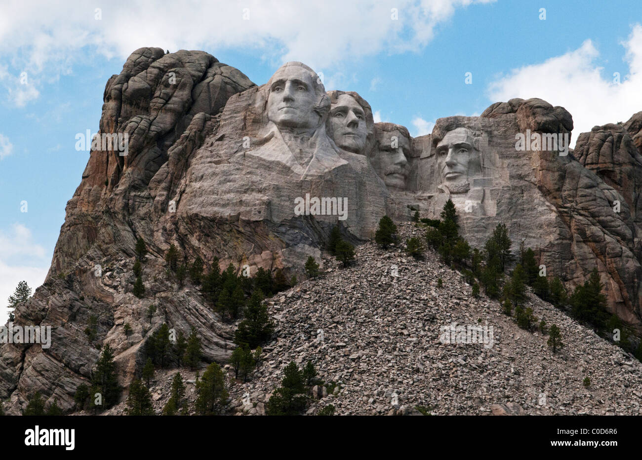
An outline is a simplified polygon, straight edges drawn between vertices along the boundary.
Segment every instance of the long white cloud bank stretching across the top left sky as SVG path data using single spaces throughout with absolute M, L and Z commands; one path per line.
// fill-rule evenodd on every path
M 16 105 L 24 104 L 37 97 L 42 81 L 68 74 L 88 55 L 124 59 L 143 46 L 213 55 L 221 47 L 250 47 L 273 64 L 300 60 L 315 70 L 336 67 L 381 51 L 417 51 L 456 8 L 491 1 L 398 0 L 393 20 L 390 5 L 367 0 L 114 0 L 100 6 L 97 20 L 96 4 L 82 0 L 64 8 L 48 0 L 15 0 L 3 5 L 0 17 L 0 57 L 12 62 L 13 75 L 2 83 Z M 13 83 L 22 71 L 35 86 Z

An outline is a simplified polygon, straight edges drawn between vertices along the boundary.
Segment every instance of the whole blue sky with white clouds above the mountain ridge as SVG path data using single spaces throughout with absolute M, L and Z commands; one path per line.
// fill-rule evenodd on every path
M 512 97 L 566 107 L 574 139 L 642 110 L 639 0 L 4 3 L 0 307 L 19 280 L 44 280 L 89 157 L 75 136 L 98 130 L 107 79 L 141 46 L 202 49 L 257 84 L 300 60 L 413 135 Z

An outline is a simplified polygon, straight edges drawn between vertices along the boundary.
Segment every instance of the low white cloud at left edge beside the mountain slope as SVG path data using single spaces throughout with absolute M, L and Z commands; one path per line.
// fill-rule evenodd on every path
M 26 226 L 14 224 L 8 233 L 0 231 L 0 323 L 8 318 L 7 299 L 22 280 L 35 291 L 49 270 L 47 252 L 36 244 Z

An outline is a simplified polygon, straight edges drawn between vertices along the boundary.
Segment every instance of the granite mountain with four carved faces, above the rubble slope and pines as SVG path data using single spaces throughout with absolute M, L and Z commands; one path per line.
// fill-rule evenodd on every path
M 123 382 L 163 322 L 195 327 L 206 358 L 229 356 L 231 327 L 197 291 L 177 294 L 162 279 L 170 244 L 185 260 L 302 276 L 334 225 L 359 243 L 382 216 L 438 218 L 449 199 L 471 246 L 504 223 L 513 250 L 533 248 L 568 289 L 597 267 L 609 309 L 641 326 L 642 112 L 580 134 L 574 150 L 571 114 L 537 98 L 441 118 L 413 138 L 374 123 L 356 92 L 326 92 L 300 62 L 257 86 L 203 51 L 150 47 L 108 80 L 103 100 L 99 134 L 128 135 L 128 153 L 91 151 L 46 282 L 17 311 L 18 322 L 52 325 L 53 345 L 0 349 L 0 398 L 16 406 L 35 389 L 73 406 L 99 353 L 82 333 L 90 315 Z M 131 293 L 139 237 L 149 251 L 145 300 Z M 152 328 L 141 313 L 150 298 L 163 305 Z

